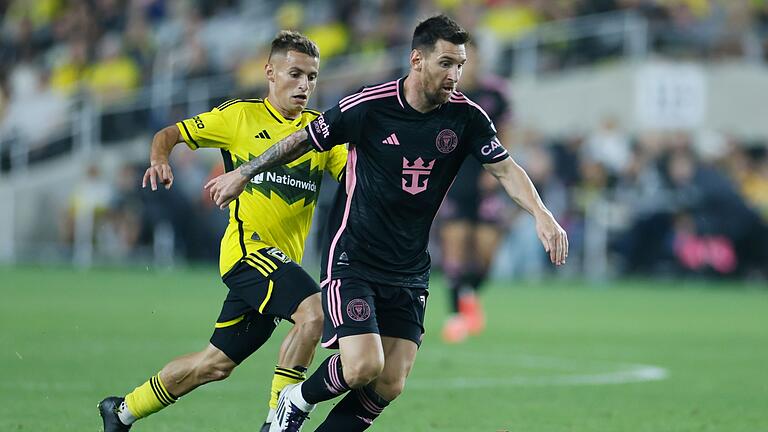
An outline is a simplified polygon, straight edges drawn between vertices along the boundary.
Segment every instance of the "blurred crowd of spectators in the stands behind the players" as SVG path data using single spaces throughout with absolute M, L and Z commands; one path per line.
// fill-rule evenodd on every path
M 356 85 L 397 75 L 410 30 L 435 10 L 487 41 L 485 56 L 502 76 L 511 73 L 512 48 L 547 22 L 616 11 L 645 17 L 649 45 L 667 55 L 764 61 L 768 52 L 765 0 L 0 0 L 0 175 L 17 143 L 32 162 L 71 150 L 73 113 L 86 104 L 104 110 L 99 138 L 119 143 L 148 140 L 222 100 L 197 110 L 121 110 L 149 98 L 142 89 L 153 83 L 184 80 L 182 91 L 192 92 L 195 80 L 217 79 L 223 96 L 262 96 L 268 42 L 282 28 L 318 43 L 323 74 L 360 71 L 365 78 L 350 80 Z M 621 50 L 611 38 L 552 43 L 542 68 L 594 63 Z M 385 63 L 399 66 L 377 77 L 372 71 Z M 351 90 L 341 86 L 334 96 Z M 324 106 L 317 99 L 311 105 Z M 609 250 L 621 272 L 766 276 L 765 142 L 682 132 L 630 136 L 612 118 L 592 132 L 552 137 L 521 127 L 513 136 L 512 153 L 563 219 L 574 250 L 584 247 L 590 206 L 608 202 L 615 226 Z M 62 241 L 74 241 L 74 215 L 85 205 L 97 214 L 105 256 L 129 257 L 153 244 L 158 226 L 169 226 L 188 259 L 214 258 L 226 217 L 201 186 L 222 168 L 213 152 L 200 153 L 177 151 L 175 188 L 155 194 L 137 188 L 143 163 L 117 176 L 93 166 L 73 196 Z M 510 238 L 521 256 L 541 259 L 511 266 L 518 274 L 535 273 L 544 262 L 536 239 L 521 238 L 530 240 L 524 220 L 510 214 Z

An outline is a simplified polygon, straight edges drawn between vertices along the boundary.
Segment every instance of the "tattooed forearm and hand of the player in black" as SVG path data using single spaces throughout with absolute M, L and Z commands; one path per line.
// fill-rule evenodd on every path
M 256 158 L 240 165 L 236 170 L 222 174 L 205 185 L 211 199 L 221 209 L 227 208 L 245 189 L 245 185 L 258 173 L 288 163 L 312 150 L 307 131 L 300 129 L 278 141 Z

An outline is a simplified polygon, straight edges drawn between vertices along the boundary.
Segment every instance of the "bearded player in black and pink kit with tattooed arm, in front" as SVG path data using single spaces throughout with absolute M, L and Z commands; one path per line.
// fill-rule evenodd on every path
M 456 90 L 469 35 L 445 15 L 414 31 L 410 72 L 347 96 L 309 126 L 206 184 L 220 207 L 259 172 L 315 148 L 350 143 L 330 215 L 321 276 L 323 345 L 339 347 L 304 383 L 280 394 L 270 431 L 301 430 L 315 404 L 346 393 L 316 431 L 362 431 L 403 390 L 424 333 L 432 221 L 472 156 L 536 220 L 555 265 L 568 240 L 493 123 Z

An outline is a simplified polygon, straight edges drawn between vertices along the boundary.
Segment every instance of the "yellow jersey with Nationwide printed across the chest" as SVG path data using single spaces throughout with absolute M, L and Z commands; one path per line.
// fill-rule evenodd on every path
M 280 115 L 268 99 L 233 99 L 176 125 L 192 150 L 221 149 L 224 167 L 232 171 L 319 115 L 304 110 L 291 120 Z M 256 175 L 229 204 L 229 225 L 219 255 L 221 274 L 264 247 L 277 247 L 301 263 L 323 173 L 328 171 L 340 180 L 346 161 L 347 149 L 336 146 L 329 152 L 312 150 Z

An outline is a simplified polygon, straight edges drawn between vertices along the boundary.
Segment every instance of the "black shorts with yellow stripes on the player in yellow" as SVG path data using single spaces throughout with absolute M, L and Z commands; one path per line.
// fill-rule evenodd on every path
M 317 282 L 278 248 L 244 257 L 222 278 L 229 287 L 211 344 L 240 364 L 291 320 L 304 299 L 320 292 Z

